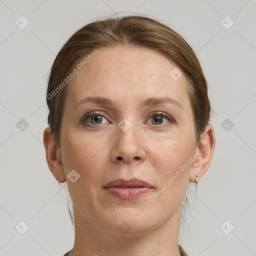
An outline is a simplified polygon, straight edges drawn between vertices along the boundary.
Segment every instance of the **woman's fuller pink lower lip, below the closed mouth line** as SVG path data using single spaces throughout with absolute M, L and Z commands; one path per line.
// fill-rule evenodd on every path
M 110 194 L 121 199 L 132 199 L 148 193 L 152 188 L 149 187 L 107 187 Z

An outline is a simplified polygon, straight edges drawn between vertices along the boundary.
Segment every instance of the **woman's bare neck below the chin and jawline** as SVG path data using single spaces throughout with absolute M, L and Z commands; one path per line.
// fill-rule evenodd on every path
M 75 240 L 68 256 L 180 256 L 178 232 L 181 207 L 164 224 L 145 231 L 143 234 L 118 236 L 111 232 L 96 229 L 73 206 Z

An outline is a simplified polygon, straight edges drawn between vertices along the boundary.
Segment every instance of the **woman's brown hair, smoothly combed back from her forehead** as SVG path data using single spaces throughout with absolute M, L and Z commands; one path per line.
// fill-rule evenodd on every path
M 80 57 L 93 52 L 95 48 L 114 46 L 147 47 L 175 62 L 188 81 L 196 142 L 199 142 L 209 121 L 210 103 L 207 82 L 196 55 L 189 44 L 170 27 L 149 17 L 128 15 L 107 17 L 84 25 L 58 52 L 51 66 L 46 95 L 48 125 L 56 145 L 60 146 L 60 125 L 67 88 L 63 86 L 63 81 L 67 80 L 67 74 Z

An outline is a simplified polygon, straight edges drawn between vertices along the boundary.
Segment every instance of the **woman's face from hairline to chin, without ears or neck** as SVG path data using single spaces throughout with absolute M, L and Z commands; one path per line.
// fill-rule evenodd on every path
M 76 69 L 67 85 L 58 149 L 75 218 L 118 235 L 122 228 L 130 228 L 126 235 L 142 234 L 179 218 L 198 156 L 185 76 L 146 48 L 99 48 Z M 149 188 L 105 188 L 131 178 Z

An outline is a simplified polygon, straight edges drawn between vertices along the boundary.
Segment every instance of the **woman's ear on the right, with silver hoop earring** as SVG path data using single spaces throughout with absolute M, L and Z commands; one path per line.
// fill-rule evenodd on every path
M 215 148 L 215 134 L 211 124 L 205 127 L 205 131 L 201 134 L 201 139 L 196 147 L 197 159 L 193 162 L 193 168 L 190 170 L 189 181 L 195 182 L 195 175 L 198 180 L 208 169 L 213 151 Z

